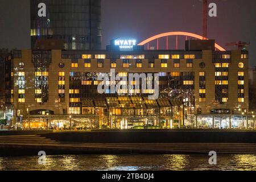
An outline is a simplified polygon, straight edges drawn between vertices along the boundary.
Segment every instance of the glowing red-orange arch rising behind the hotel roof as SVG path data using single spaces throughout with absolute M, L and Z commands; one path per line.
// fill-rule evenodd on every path
M 190 36 L 192 38 L 196 38 L 196 39 L 200 39 L 200 40 L 207 39 L 207 38 L 204 38 L 201 35 L 192 34 L 192 33 L 189 33 L 189 32 L 166 32 L 166 33 L 163 33 L 163 34 L 158 34 L 158 35 L 152 36 L 151 38 L 148 38 L 148 39 L 144 40 L 143 42 L 139 43 L 138 46 L 144 46 L 145 44 L 151 42 L 152 40 L 163 38 L 165 36 L 174 36 L 174 35 Z M 217 49 L 219 49 L 220 51 L 226 51 L 223 47 L 221 47 L 217 43 L 215 43 L 215 47 Z

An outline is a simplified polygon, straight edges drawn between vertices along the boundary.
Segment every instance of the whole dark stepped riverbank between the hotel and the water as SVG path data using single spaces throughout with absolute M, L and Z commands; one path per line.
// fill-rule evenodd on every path
M 256 154 L 256 133 L 248 130 L 101 130 L 0 136 L 0 156 L 38 155 L 39 151 L 47 155 L 208 154 L 209 151 Z

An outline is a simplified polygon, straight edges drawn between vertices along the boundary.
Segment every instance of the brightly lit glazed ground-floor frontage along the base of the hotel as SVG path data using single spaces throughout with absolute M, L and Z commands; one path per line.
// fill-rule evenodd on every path
M 253 115 L 190 114 L 176 112 L 146 116 L 102 115 L 46 115 L 31 116 L 17 123 L 28 129 L 89 130 L 89 129 L 255 129 Z

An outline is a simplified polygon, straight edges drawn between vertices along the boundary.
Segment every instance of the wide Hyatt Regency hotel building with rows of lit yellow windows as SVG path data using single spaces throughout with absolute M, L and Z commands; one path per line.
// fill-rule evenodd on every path
M 237 50 L 136 46 L 130 51 L 112 46 L 104 51 L 13 51 L 6 59 L 7 119 L 30 129 L 252 128 L 248 57 Z M 159 98 L 149 100 L 154 89 L 141 87 L 98 93 L 97 78 L 110 69 L 122 76 L 159 73 Z

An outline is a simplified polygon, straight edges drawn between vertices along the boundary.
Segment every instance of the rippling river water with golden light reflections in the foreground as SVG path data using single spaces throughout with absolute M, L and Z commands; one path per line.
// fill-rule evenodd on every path
M 56 155 L 45 165 L 37 156 L 0 158 L 0 170 L 256 170 L 256 155 L 217 155 L 217 165 L 205 155 Z

